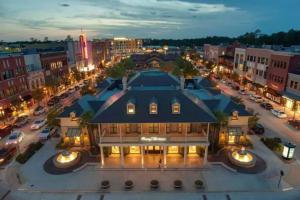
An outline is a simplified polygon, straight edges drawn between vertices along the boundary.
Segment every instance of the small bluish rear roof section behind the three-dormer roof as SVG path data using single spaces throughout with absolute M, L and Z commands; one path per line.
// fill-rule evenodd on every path
M 178 80 L 160 71 L 141 72 L 129 82 L 132 87 L 157 87 L 157 86 L 179 86 Z

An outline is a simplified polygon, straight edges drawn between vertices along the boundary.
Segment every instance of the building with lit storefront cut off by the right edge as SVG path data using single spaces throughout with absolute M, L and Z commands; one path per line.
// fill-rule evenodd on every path
M 284 92 L 285 107 L 300 114 L 300 68 L 288 74 Z

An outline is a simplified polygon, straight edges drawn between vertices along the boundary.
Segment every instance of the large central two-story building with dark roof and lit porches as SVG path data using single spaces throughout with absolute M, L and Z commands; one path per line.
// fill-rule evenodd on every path
M 143 71 L 103 85 L 100 94 L 82 97 L 59 116 L 65 144 L 99 147 L 102 167 L 157 168 L 159 160 L 164 167 L 201 167 L 210 142 L 218 140 L 210 137 L 215 111 L 229 120 L 220 142 L 241 143 L 248 128 L 245 108 L 207 79 Z M 78 126 L 86 112 L 93 116 L 89 130 Z

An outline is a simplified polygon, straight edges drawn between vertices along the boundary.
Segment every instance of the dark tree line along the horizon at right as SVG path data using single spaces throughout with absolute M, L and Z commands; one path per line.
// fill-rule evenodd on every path
M 257 29 L 253 32 L 247 32 L 238 37 L 225 36 L 208 36 L 204 38 L 195 39 L 145 39 L 144 45 L 153 46 L 177 46 L 177 47 L 194 47 L 203 46 L 204 44 L 218 45 L 221 43 L 233 43 L 238 41 L 245 45 L 300 45 L 300 30 L 291 29 L 287 32 L 277 32 L 273 34 L 263 34 L 261 30 Z

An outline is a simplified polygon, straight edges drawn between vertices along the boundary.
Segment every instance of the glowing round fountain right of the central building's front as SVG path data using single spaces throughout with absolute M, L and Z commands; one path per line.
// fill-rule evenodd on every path
M 232 164 L 239 167 L 253 167 L 256 163 L 255 155 L 247 151 L 245 147 L 239 150 L 229 151 L 228 158 Z

